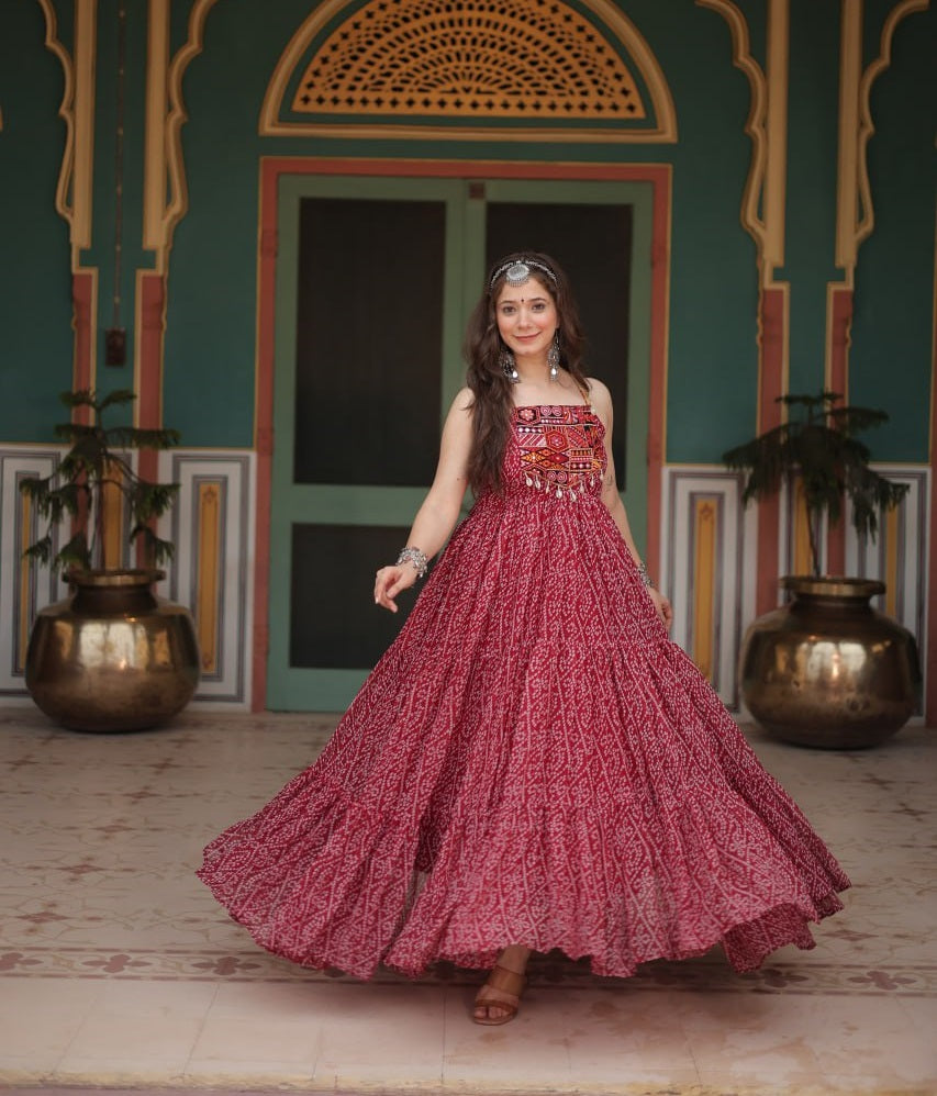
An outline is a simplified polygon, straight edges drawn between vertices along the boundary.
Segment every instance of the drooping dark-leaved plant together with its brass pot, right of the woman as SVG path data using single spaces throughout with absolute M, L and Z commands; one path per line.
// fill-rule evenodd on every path
M 748 628 L 740 658 L 748 711 L 787 741 L 827 748 L 873 746 L 913 714 L 921 687 L 914 637 L 877 612 L 870 599 L 883 583 L 821 574 L 824 518 L 841 519 L 851 504 L 860 538 L 874 538 L 878 516 L 907 493 L 869 466 L 871 451 L 856 435 L 888 421 L 883 411 L 840 405 L 841 396 L 784 395 L 780 426 L 723 454 L 743 472 L 743 502 L 800 489 L 807 514 L 810 575 L 785 575 L 792 600 Z

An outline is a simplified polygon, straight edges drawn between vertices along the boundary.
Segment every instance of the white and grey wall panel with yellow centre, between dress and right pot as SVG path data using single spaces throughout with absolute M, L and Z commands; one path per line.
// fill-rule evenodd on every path
M 739 477 L 724 469 L 670 466 L 663 476 L 660 585 L 673 604 L 671 637 L 735 709 L 755 605 L 755 511 L 743 511 Z

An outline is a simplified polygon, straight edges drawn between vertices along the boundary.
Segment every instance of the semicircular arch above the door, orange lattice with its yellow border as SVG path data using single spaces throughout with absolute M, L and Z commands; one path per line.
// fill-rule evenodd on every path
M 370 0 L 324 33 L 343 7 L 293 35 L 261 133 L 676 139 L 657 60 L 606 0 L 594 20 L 558 0 Z

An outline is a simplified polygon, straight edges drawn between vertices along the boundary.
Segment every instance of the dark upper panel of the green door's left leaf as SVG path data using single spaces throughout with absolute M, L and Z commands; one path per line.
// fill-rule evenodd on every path
M 432 480 L 445 255 L 444 201 L 301 200 L 297 483 Z M 405 259 L 402 277 L 387 257 Z

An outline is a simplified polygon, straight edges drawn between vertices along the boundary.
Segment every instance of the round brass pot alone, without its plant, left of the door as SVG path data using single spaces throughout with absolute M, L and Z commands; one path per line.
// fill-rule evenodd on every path
M 72 730 L 142 730 L 180 712 L 199 680 L 187 608 L 157 599 L 150 569 L 70 571 L 74 593 L 42 609 L 26 651 L 26 687 Z

